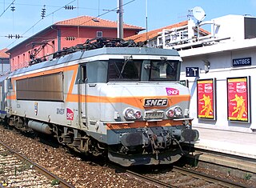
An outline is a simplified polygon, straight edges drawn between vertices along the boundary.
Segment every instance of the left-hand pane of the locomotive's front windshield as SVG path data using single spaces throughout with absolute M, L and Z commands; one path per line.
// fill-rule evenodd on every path
M 108 81 L 139 81 L 142 60 L 110 59 Z

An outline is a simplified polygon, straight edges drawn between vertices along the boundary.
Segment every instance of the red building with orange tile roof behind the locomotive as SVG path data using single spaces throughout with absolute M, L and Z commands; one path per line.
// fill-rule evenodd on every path
M 140 26 L 123 24 L 124 38 L 145 30 Z M 49 58 L 49 54 L 63 48 L 76 46 L 92 38 L 116 38 L 117 22 L 90 16 L 80 16 L 56 22 L 20 42 L 6 53 L 10 54 L 11 71 L 29 66 L 37 58 Z

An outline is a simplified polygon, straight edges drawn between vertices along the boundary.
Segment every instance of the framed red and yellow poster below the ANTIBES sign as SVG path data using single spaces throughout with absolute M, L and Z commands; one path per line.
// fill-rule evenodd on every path
M 250 78 L 250 77 L 249 77 Z M 250 122 L 249 82 L 247 77 L 227 78 L 227 119 Z

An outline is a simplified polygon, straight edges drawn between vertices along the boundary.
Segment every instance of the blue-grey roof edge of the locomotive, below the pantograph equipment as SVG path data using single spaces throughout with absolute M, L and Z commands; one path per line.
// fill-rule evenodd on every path
M 32 70 L 38 70 L 50 66 L 56 66 L 62 63 L 75 61 L 81 58 L 90 58 L 102 54 L 123 54 L 123 55 L 157 55 L 157 56 L 176 56 L 179 57 L 177 50 L 167 50 L 159 48 L 147 48 L 147 47 L 103 47 L 95 50 L 80 50 L 72 54 L 66 54 L 61 58 L 54 58 L 50 61 L 39 62 L 32 66 L 23 67 L 19 70 L 14 70 L 11 75 L 22 74 Z

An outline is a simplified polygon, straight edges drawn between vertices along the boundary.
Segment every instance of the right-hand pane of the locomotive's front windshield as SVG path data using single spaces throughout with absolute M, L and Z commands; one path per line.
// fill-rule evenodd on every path
M 178 80 L 179 66 L 180 62 L 152 61 L 150 64 L 150 80 Z

